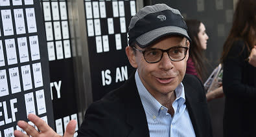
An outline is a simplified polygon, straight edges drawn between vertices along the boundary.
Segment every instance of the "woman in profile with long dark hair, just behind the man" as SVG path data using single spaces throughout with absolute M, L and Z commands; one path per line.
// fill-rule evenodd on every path
M 203 82 L 206 74 L 205 63 L 207 59 L 204 56 L 204 50 L 207 48 L 207 36 L 205 32 L 205 26 L 201 21 L 196 19 L 186 20 L 188 34 L 191 37 L 191 47 L 189 47 L 189 59 L 187 60 L 187 74 L 197 76 Z M 222 98 L 224 96 L 222 86 L 207 92 L 207 101 L 213 100 L 214 98 Z

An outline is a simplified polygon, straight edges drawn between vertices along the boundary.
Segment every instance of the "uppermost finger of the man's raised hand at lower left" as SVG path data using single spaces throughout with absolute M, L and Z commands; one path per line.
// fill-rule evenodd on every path
M 28 118 L 30 121 L 32 121 L 36 125 L 36 127 L 38 127 L 38 129 L 40 129 L 41 132 L 46 132 L 46 131 L 52 130 L 51 127 L 49 127 L 49 125 L 47 125 L 47 123 L 45 123 L 45 121 L 43 121 L 41 118 L 39 118 L 35 114 L 29 114 Z M 30 135 L 32 135 L 32 134 L 30 134 Z

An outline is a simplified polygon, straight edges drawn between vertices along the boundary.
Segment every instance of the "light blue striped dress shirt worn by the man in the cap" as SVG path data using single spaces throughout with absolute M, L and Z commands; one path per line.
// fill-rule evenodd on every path
M 161 105 L 144 87 L 136 71 L 135 81 L 139 96 L 146 112 L 150 137 L 195 137 L 194 129 L 185 105 L 185 92 L 180 83 L 175 89 L 176 100 L 172 103 L 174 116 Z

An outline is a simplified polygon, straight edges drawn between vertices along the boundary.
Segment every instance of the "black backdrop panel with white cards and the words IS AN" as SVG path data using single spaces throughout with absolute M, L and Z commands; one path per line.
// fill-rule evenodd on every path
M 126 57 L 125 48 L 128 45 L 128 25 L 135 14 L 135 1 L 85 1 L 85 7 L 95 101 L 110 90 L 120 87 L 134 71 Z M 102 16 L 102 9 L 106 10 L 106 16 Z M 91 27 L 94 29 L 90 29 Z

